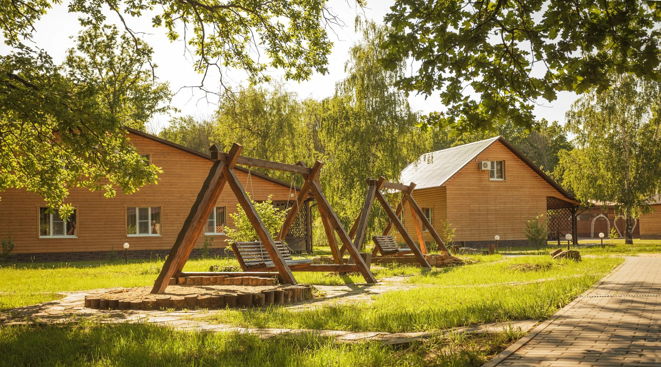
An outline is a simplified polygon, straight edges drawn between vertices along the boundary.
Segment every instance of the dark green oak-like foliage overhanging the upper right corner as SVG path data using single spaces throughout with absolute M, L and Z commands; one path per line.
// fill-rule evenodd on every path
M 612 72 L 658 80 L 660 16 L 656 2 L 640 0 L 397 0 L 385 16 L 394 32 L 383 62 L 417 61 L 397 86 L 440 93 L 447 110 L 430 123 L 462 132 L 508 119 L 533 127 L 537 98 L 603 91 Z

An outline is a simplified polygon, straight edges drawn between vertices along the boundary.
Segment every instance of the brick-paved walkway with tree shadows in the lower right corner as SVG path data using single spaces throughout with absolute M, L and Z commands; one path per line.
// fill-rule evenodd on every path
M 498 366 L 661 366 L 661 257 L 627 257 Z

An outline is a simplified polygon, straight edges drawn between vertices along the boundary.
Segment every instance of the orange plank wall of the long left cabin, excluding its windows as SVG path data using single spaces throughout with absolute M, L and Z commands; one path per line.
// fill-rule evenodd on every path
M 67 202 L 76 208 L 77 236 L 75 238 L 40 238 L 39 211 L 46 207 L 44 200 L 25 190 L 9 189 L 0 199 L 0 238 L 10 234 L 15 241 L 13 261 L 32 259 L 35 261 L 77 260 L 106 258 L 111 250 L 123 255 L 122 245 L 130 244 L 132 257 L 165 255 L 186 219 L 192 203 L 206 178 L 212 161 L 152 139 L 129 135 L 131 143 L 140 154 L 149 154 L 151 163 L 161 167 L 158 184 L 141 187 L 132 195 L 124 195 L 118 189 L 116 197 L 106 199 L 103 191 L 91 192 L 75 187 Z M 247 174 L 236 171 L 239 180 L 246 185 Z M 264 200 L 273 195 L 273 200 L 287 200 L 290 195 L 288 184 L 278 184 L 253 174 L 254 199 Z M 251 191 L 250 185 L 246 187 Z M 160 235 L 128 236 L 128 207 L 160 207 Z M 217 201 L 217 207 L 225 207 L 227 226 L 233 226 L 230 213 L 237 211 L 237 200 L 227 187 Z M 227 239 L 214 235 L 212 254 L 222 253 Z M 200 236 L 196 247 L 204 244 Z M 58 256 L 60 253 L 62 255 Z M 48 255 L 46 255 L 48 254 Z

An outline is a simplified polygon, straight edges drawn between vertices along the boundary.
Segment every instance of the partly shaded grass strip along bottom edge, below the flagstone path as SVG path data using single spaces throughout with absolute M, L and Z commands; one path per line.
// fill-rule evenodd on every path
M 0 328 L 3 366 L 481 366 L 521 333 L 452 335 L 405 346 L 320 337 L 190 333 L 149 324 Z

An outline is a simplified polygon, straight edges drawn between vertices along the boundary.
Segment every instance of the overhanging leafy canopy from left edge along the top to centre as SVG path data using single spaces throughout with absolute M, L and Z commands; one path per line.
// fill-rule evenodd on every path
M 155 13 L 153 26 L 190 49 L 201 74 L 198 88 L 214 93 L 227 90 L 227 69 L 245 71 L 252 84 L 269 81 L 269 68 L 294 81 L 325 73 L 332 46 L 325 26 L 338 22 L 325 0 L 73 0 L 68 10 L 85 31 L 65 63 L 55 65 L 38 45 L 26 45 L 36 22 L 60 4 L 0 0 L 10 50 L 0 56 L 0 191 L 26 188 L 53 208 L 72 186 L 104 189 L 110 197 L 116 188 L 132 193 L 157 180 L 158 169 L 143 164 L 122 127 L 144 129 L 151 116 L 169 109 L 171 92 L 157 82 L 151 48 L 129 17 Z M 106 7 L 124 34 L 104 25 Z M 210 73 L 213 88 L 205 84 Z

